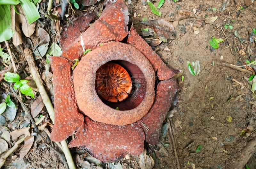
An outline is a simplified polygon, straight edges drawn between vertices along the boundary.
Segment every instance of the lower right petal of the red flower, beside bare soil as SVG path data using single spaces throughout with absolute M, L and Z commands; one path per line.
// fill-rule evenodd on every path
M 149 144 L 157 144 L 161 127 L 171 107 L 172 100 L 176 96 L 177 88 L 178 84 L 175 78 L 158 83 L 156 98 L 151 109 L 137 122 L 143 128 L 146 141 Z M 144 123 L 149 130 L 147 130 L 141 122 Z

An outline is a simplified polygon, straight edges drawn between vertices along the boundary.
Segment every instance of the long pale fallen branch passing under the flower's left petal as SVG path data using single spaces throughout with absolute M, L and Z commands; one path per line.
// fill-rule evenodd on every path
M 50 118 L 51 118 L 52 122 L 54 122 L 54 109 L 53 109 L 53 106 L 52 106 L 52 102 L 51 102 L 49 96 L 47 95 L 47 93 L 44 89 L 44 86 L 43 86 L 43 82 L 40 78 L 40 75 L 39 75 L 38 71 L 36 70 L 36 64 L 35 64 L 32 52 L 28 48 L 26 48 L 26 49 L 24 49 L 24 53 L 25 53 L 25 58 L 26 58 L 26 60 L 28 62 L 28 65 L 30 67 L 30 72 L 31 72 L 31 74 L 34 78 L 34 81 L 35 81 L 36 86 L 39 90 L 39 93 L 42 97 L 44 105 L 45 105 L 45 107 L 46 107 L 46 109 L 47 109 L 47 111 L 50 115 Z M 60 144 L 62 145 L 62 149 L 63 149 L 63 152 L 64 152 L 65 157 L 67 159 L 69 168 L 71 168 L 71 169 L 74 168 L 75 169 L 76 165 L 75 165 L 75 163 L 72 159 L 72 156 L 71 156 L 71 153 L 68 149 L 68 144 L 67 144 L 66 140 L 61 141 Z

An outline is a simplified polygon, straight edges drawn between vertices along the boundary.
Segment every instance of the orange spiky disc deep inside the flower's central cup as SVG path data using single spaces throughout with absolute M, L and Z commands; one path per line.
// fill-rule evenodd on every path
M 96 71 L 95 89 L 109 102 L 121 102 L 132 90 L 132 80 L 124 67 L 108 62 Z

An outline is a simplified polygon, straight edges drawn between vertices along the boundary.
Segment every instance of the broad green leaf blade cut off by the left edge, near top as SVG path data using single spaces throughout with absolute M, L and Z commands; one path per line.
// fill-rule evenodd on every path
M 10 5 L 0 5 L 0 42 L 11 39 L 13 34 Z

